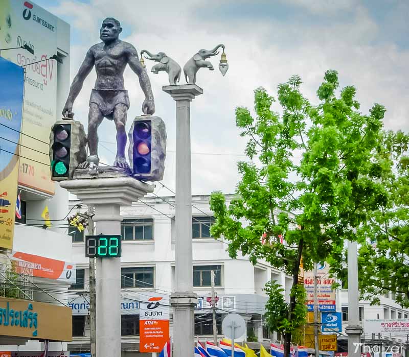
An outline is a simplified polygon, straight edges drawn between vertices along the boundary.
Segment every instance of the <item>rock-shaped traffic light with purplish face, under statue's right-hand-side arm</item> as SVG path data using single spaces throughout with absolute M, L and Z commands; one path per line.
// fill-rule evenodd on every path
M 163 179 L 166 158 L 166 127 L 158 116 L 135 117 L 129 136 L 132 175 L 144 181 Z

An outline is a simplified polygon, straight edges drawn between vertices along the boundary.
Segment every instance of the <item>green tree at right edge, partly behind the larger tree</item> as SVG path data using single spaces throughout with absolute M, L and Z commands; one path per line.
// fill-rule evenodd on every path
M 379 165 L 373 170 L 385 187 L 388 200 L 368 215 L 358 228 L 359 288 L 362 298 L 379 303 L 385 293 L 395 293 L 396 302 L 409 307 L 409 136 L 385 132 L 379 146 Z M 389 170 L 392 169 L 392 170 Z M 333 269 L 346 279 L 347 252 L 333 262 Z M 342 258 L 342 259 L 339 259 Z

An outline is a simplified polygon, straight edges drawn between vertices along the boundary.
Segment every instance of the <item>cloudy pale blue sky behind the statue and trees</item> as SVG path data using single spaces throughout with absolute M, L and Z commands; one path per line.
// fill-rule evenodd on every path
M 316 89 L 327 69 L 339 73 L 340 87 L 354 85 L 362 113 L 374 103 L 387 109 L 384 126 L 409 130 L 409 2 L 406 0 L 37 0 L 36 3 L 71 25 L 71 78 L 90 46 L 100 42 L 105 17 L 121 21 L 121 39 L 140 52 L 165 52 L 183 68 L 201 48 L 225 45 L 229 70 L 218 70 L 220 55 L 210 58 L 214 71 L 200 69 L 196 84 L 202 96 L 191 103 L 192 193 L 234 193 L 237 161 L 244 160 L 246 140 L 235 125 L 235 108 L 254 107 L 254 89 L 264 87 L 277 97 L 277 86 L 300 75 L 302 91 L 316 104 Z M 150 73 L 155 115 L 166 123 L 167 158 L 163 183 L 175 188 L 175 102 L 162 91 L 168 77 Z M 185 83 L 182 78 L 179 84 Z M 73 111 L 87 127 L 93 71 Z M 127 68 L 125 88 L 130 108 L 126 129 L 141 114 L 144 100 L 138 77 Z M 62 108 L 61 108 L 62 109 Z M 272 107 L 279 111 L 277 104 Z M 115 126 L 100 127 L 99 156 L 115 159 Z M 172 195 L 161 185 L 155 192 Z

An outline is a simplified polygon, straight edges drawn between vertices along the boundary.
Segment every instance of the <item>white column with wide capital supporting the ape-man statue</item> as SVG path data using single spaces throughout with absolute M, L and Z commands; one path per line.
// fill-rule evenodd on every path
M 121 234 L 120 207 L 153 192 L 152 185 L 131 177 L 65 180 L 60 186 L 94 206 L 96 234 Z M 96 263 L 97 356 L 121 357 L 121 259 Z

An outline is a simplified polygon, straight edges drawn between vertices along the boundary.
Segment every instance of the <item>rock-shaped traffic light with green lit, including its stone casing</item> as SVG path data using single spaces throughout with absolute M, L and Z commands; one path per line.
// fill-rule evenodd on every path
M 86 135 L 80 122 L 61 120 L 50 133 L 51 179 L 73 178 L 74 170 L 86 160 Z

